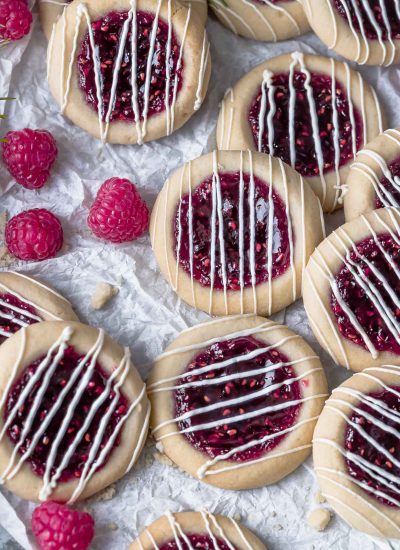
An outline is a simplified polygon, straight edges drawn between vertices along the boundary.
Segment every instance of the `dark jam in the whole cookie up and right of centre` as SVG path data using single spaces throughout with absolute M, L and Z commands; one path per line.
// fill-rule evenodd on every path
M 312 120 L 310 113 L 310 104 L 307 97 L 307 90 L 304 86 L 305 75 L 295 71 L 293 75 L 293 87 L 296 91 L 296 101 L 294 108 L 294 142 L 296 150 L 296 162 L 294 168 L 302 176 L 312 177 L 320 175 L 318 158 L 316 153 Z M 276 111 L 273 116 L 274 140 L 273 156 L 281 158 L 287 164 L 291 164 L 290 159 L 290 134 L 291 125 L 289 119 L 289 73 L 277 74 L 272 81 L 275 86 L 274 98 Z M 335 168 L 335 125 L 332 108 L 332 79 L 319 73 L 311 73 L 311 87 L 318 117 L 319 138 L 323 155 L 324 173 L 330 172 Z M 268 113 L 271 104 L 266 90 L 266 110 L 264 121 L 261 121 L 261 127 L 264 129 L 261 140 L 261 152 L 270 153 L 268 144 Z M 262 102 L 262 90 L 260 87 L 257 96 L 254 98 L 249 111 L 249 124 L 254 138 L 254 144 L 259 148 L 260 131 L 260 109 Z M 357 109 L 353 106 L 355 120 L 355 136 L 357 150 L 361 146 L 362 126 L 361 117 Z M 339 149 L 340 160 L 339 167 L 347 164 L 353 159 L 353 137 L 351 115 L 349 110 L 349 100 L 343 86 L 336 82 L 336 111 L 339 130 Z

